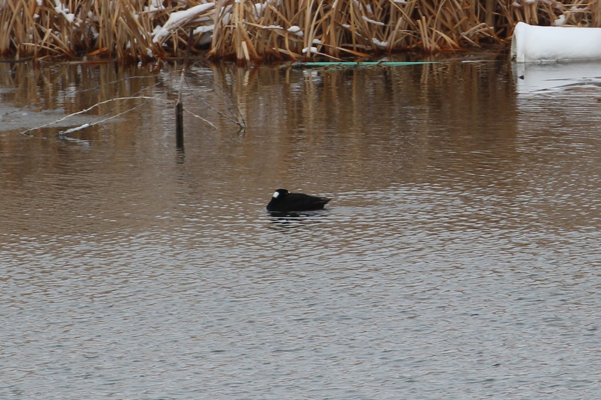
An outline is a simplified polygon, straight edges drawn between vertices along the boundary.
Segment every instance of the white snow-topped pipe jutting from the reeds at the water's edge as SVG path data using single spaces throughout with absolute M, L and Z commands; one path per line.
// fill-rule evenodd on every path
M 601 28 L 534 26 L 518 22 L 511 38 L 511 61 L 601 59 Z

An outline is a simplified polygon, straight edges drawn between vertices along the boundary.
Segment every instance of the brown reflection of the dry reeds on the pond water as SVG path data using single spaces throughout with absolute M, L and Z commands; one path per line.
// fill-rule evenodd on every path
M 195 194 L 199 201 L 225 196 L 222 201 L 227 204 L 229 187 L 244 193 L 250 203 L 258 203 L 276 186 L 335 195 L 406 183 L 451 180 L 467 185 L 477 176 L 486 181 L 487 173 L 498 176 L 497 161 L 504 163 L 503 172 L 510 172 L 519 157 L 513 84 L 503 63 L 347 71 L 242 70 L 228 65 L 196 69 L 185 80 L 186 107 L 217 129 L 186 116 L 183 165 L 174 163 L 173 107 L 165 103 L 174 100 L 180 85 L 177 68 L 2 66 L 4 86 L 15 88 L 5 92 L 2 103 L 19 107 L 19 112 L 9 109 L 5 116 L 15 129 L 2 135 L 7 164 L 4 185 L 10 188 L 34 176 L 31 182 L 35 184 L 28 191 L 43 192 L 64 182 L 64 188 L 58 189 L 68 198 L 56 206 L 70 204 L 75 210 L 81 204 L 84 210 L 79 214 L 85 213 L 86 202 L 80 203 L 74 195 L 84 184 L 81 196 L 97 196 L 103 204 L 123 203 L 124 213 L 144 219 L 146 207 L 151 207 L 152 214 L 170 205 L 150 201 L 153 208 L 147 204 L 157 189 L 173 200 L 173 193 L 180 190 L 178 182 L 215 185 L 216 193 Z M 139 95 L 159 95 L 159 100 L 103 104 L 91 116 L 78 116 L 71 125 L 67 119 L 61 128 L 44 128 L 31 137 L 18 134 L 60 118 L 61 112 Z M 69 143 L 53 136 L 138 104 L 142 107 L 117 121 L 69 135 L 84 142 Z M 236 105 L 248 125 L 243 134 L 225 118 Z M 20 110 L 28 115 L 19 118 Z M 47 110 L 58 112 L 48 114 Z M 52 179 L 40 177 L 41 172 Z M 24 197 L 45 204 L 31 204 L 32 209 L 42 214 L 48 211 L 43 196 Z M 123 202 L 123 197 L 133 199 Z M 17 214 L 22 210 L 19 202 L 7 199 L 7 203 L 13 204 Z M 37 224 L 38 219 L 33 221 Z M 97 224 L 90 229 L 97 230 Z

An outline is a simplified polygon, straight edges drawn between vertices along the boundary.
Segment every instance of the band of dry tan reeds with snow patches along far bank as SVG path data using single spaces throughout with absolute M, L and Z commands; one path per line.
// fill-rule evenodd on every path
M 149 61 L 337 59 L 498 43 L 519 22 L 600 26 L 593 0 L 0 0 L 0 53 Z M 189 35 L 192 38 L 189 40 Z

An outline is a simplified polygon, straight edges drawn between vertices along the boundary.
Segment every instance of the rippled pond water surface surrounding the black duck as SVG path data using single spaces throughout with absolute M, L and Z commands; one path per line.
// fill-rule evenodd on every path
M 600 398 L 599 83 L 548 72 L 0 64 L 0 398 Z

